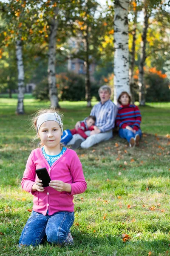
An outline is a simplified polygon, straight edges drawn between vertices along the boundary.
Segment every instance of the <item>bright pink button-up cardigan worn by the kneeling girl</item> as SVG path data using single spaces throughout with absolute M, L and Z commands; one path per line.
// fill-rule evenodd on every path
M 62 180 L 71 184 L 71 193 L 58 192 L 51 187 L 45 187 L 44 192 L 31 192 L 33 184 L 38 179 L 35 170 L 44 168 L 48 170 L 51 180 Z M 33 210 L 46 215 L 55 212 L 73 212 L 73 195 L 83 193 L 87 188 L 82 171 L 82 164 L 74 150 L 67 148 L 65 153 L 50 167 L 42 154 L 42 148 L 34 149 L 28 157 L 26 170 L 21 181 L 22 188 L 34 195 Z

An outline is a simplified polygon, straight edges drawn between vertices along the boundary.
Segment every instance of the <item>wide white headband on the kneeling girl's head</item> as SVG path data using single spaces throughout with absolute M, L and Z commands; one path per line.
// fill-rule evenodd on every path
M 38 119 L 37 119 L 37 134 L 40 129 L 40 126 L 43 124 L 43 122 L 46 122 L 46 121 L 57 122 L 63 132 L 63 123 L 62 123 L 61 117 L 56 112 L 55 113 L 48 112 L 48 113 L 44 113 L 38 117 Z

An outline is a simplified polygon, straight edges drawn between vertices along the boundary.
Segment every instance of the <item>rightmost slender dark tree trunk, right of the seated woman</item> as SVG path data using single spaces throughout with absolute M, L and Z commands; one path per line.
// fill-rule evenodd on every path
M 139 64 L 139 104 L 141 106 L 145 105 L 145 86 L 144 86 L 144 63 L 146 59 L 146 37 L 147 37 L 147 28 L 148 20 L 150 15 L 147 12 L 147 7 L 144 9 L 144 25 L 141 41 L 141 54 L 140 54 L 140 64 Z

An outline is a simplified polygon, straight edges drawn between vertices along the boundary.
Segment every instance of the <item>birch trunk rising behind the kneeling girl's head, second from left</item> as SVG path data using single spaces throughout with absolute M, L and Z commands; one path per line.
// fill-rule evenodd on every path
M 54 17 L 50 23 L 49 35 L 49 51 L 48 51 L 48 87 L 51 107 L 59 108 L 59 100 L 56 86 L 56 37 L 58 29 L 58 15 L 59 9 L 56 7 Z

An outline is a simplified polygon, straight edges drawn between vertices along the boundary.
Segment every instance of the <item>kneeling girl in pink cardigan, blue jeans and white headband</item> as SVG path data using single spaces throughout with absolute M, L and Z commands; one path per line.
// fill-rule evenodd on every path
M 21 182 L 34 195 L 34 204 L 19 245 L 36 246 L 45 235 L 48 242 L 69 243 L 73 241 L 69 231 L 74 222 L 73 195 L 86 190 L 82 165 L 76 152 L 60 143 L 63 124 L 55 110 L 39 111 L 34 125 L 42 147 L 31 152 Z M 51 177 L 48 187 L 42 186 L 35 172 L 44 167 Z

